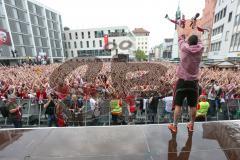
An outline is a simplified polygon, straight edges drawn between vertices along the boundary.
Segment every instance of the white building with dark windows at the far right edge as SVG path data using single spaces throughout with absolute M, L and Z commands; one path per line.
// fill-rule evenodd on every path
M 240 0 L 218 0 L 208 59 L 240 59 Z

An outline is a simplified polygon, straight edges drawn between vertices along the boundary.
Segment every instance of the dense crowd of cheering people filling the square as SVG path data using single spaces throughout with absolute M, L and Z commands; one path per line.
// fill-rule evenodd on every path
M 85 77 L 85 75 L 89 74 L 86 74 L 88 71 L 87 66 L 83 65 L 70 71 L 70 74 L 65 75 L 63 83 L 54 88 L 50 85 L 50 77 L 60 64 L 1 66 L 0 98 L 1 101 L 11 106 L 9 107 L 9 115 L 13 115 L 13 119 L 16 120 L 13 121 L 15 127 L 21 126 L 20 122 L 17 121 L 21 115 L 21 107 L 15 103 L 16 98 L 31 99 L 34 103 L 43 105 L 47 109 L 48 126 L 52 126 L 55 122 L 58 123 L 56 123 L 58 126 L 64 125 L 65 117 L 61 114 L 63 107 L 59 105 L 59 102 L 63 101 L 66 102 L 64 103 L 66 104 L 65 107 L 78 118 L 81 117 L 81 113 L 84 110 L 83 103 L 86 101 L 90 102 L 92 112 L 96 111 L 97 113 L 97 104 L 101 98 L 112 101 L 112 110 L 117 112 L 120 111 L 119 107 L 122 105 L 120 102 L 122 100 L 125 101 L 129 106 L 129 115 L 134 116 L 134 99 L 138 97 L 164 98 L 172 95 L 174 83 L 177 80 L 175 74 L 177 65 L 168 62 L 159 63 L 167 68 L 167 71 L 165 73 L 163 71 L 164 74 L 161 77 L 154 77 L 160 78 L 161 83 L 159 87 L 155 86 L 152 88 L 152 79 L 149 79 L 146 84 L 138 86 L 138 92 L 135 92 L 136 87 L 129 88 L 131 85 L 127 82 L 119 82 L 119 84 L 112 82 L 111 76 L 113 74 L 109 74 L 111 73 L 111 63 L 109 62 L 103 63 L 101 71 L 98 75 L 95 75 L 94 80 L 91 80 L 91 82 L 88 82 L 88 77 Z M 71 69 L 70 67 L 69 70 Z M 141 70 L 128 73 L 126 79 L 138 78 L 141 81 L 141 77 L 144 74 L 146 74 L 146 71 Z M 131 82 L 129 81 L 129 83 Z M 220 104 L 220 102 L 227 99 L 240 98 L 240 74 L 236 70 L 202 68 L 199 83 L 202 88 L 201 94 L 206 95 L 210 105 L 215 106 L 215 108 L 212 107 L 212 114 L 214 114 L 214 109 L 216 110 L 218 107 L 218 103 Z M 120 86 L 123 84 L 127 87 Z M 125 88 L 123 90 L 124 94 L 118 93 L 117 88 Z M 47 102 L 43 102 L 43 100 L 47 100 Z M 57 118 L 60 121 L 56 121 Z M 116 117 L 113 120 L 116 121 Z

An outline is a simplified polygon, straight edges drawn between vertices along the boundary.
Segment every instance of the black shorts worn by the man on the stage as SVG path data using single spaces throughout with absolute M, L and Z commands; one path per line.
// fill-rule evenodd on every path
M 182 106 L 183 101 L 187 98 L 187 104 L 190 107 L 196 107 L 199 96 L 198 81 L 185 81 L 179 79 L 174 91 L 174 105 Z

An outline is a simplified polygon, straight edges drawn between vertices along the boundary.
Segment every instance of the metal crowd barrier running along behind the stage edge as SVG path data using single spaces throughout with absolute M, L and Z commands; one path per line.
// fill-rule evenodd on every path
M 141 102 L 142 101 L 142 102 Z M 145 102 L 143 107 L 140 103 Z M 47 100 L 44 100 L 46 103 Z M 46 127 L 47 126 L 47 116 L 45 115 L 45 109 L 43 104 L 38 104 L 34 99 L 22 100 L 18 99 L 17 103 L 22 106 L 22 122 L 23 127 Z M 0 102 L 0 106 L 2 102 Z M 62 102 L 67 112 L 67 104 Z M 84 112 L 80 117 L 81 120 L 69 119 L 67 122 L 68 126 L 110 126 L 112 124 L 112 116 L 109 100 L 99 101 L 99 116 L 95 116 L 90 108 L 89 102 L 84 102 Z M 159 100 L 157 111 L 153 112 L 153 109 L 149 107 L 148 99 L 136 100 L 136 114 L 134 116 L 129 116 L 127 104 L 123 103 L 122 110 L 122 120 L 126 124 L 160 124 L 169 123 L 173 121 L 173 113 L 167 112 L 165 109 L 165 102 Z M 69 114 L 69 113 L 68 113 Z M 222 104 L 222 110 L 217 111 L 216 117 L 207 116 L 206 120 L 234 120 L 240 119 L 240 100 L 227 100 Z M 188 107 L 186 105 L 182 108 L 181 122 L 186 122 L 189 120 Z M 0 127 L 13 127 L 8 118 L 4 118 L 0 114 Z

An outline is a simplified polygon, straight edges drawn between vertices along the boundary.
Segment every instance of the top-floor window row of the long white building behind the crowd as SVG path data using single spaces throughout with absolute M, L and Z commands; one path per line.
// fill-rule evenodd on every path
M 73 39 L 72 33 L 68 33 L 68 35 L 69 35 L 69 39 L 72 40 Z M 75 32 L 74 36 L 75 36 L 75 39 L 78 39 L 79 38 L 78 32 Z M 127 33 L 125 32 L 124 29 L 122 29 L 122 30 L 116 29 L 115 32 L 111 32 L 111 30 L 108 30 L 108 36 L 109 37 L 127 36 Z M 92 37 L 90 31 L 87 32 L 87 37 L 88 38 Z M 102 31 L 94 31 L 94 38 L 103 38 L 103 37 L 104 37 L 103 30 Z M 66 40 L 66 34 L 63 34 L 63 38 L 64 38 L 64 40 Z M 84 34 L 84 32 L 81 32 L 81 39 L 84 39 L 84 38 L 85 38 L 85 34 Z

